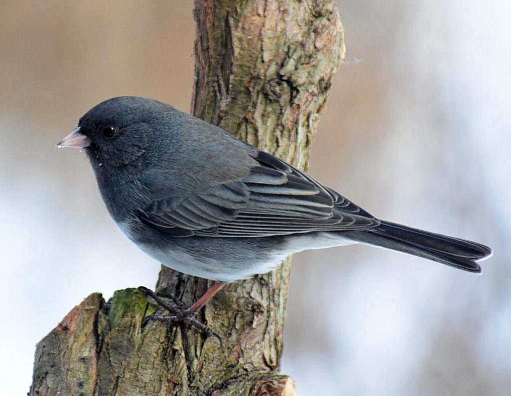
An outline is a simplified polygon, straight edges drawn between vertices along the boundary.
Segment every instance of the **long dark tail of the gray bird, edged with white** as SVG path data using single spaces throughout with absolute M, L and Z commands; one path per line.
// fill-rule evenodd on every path
M 492 254 L 492 249 L 480 243 L 388 221 L 382 221 L 374 228 L 348 232 L 349 238 L 358 242 L 402 251 L 475 273 L 482 272 L 477 261 Z

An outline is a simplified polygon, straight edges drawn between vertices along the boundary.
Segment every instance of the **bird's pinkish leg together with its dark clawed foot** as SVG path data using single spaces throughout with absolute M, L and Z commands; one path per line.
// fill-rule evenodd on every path
M 144 321 L 148 321 L 150 319 L 156 319 L 161 321 L 170 321 L 171 323 L 175 322 L 188 322 L 196 329 L 200 330 L 201 332 L 207 334 L 208 336 L 215 336 L 220 341 L 220 344 L 222 344 L 222 338 L 213 330 L 207 327 L 204 323 L 201 323 L 197 318 L 195 317 L 197 312 L 200 311 L 202 307 L 204 307 L 219 290 L 221 290 L 225 286 L 225 283 L 217 282 L 215 283 L 211 288 L 209 288 L 202 297 L 200 297 L 195 304 L 190 307 L 189 309 L 183 309 L 183 303 L 174 295 L 170 296 L 176 307 L 172 307 L 167 304 L 161 297 L 159 297 L 156 293 L 154 293 L 152 290 L 149 290 L 148 288 L 144 286 L 140 286 L 138 289 L 146 293 L 148 296 L 153 298 L 157 304 L 169 311 L 170 315 L 151 315 L 144 319 Z

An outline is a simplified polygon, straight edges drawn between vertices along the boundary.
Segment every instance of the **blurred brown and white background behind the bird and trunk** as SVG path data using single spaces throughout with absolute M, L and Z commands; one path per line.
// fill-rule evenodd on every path
M 486 243 L 476 276 L 348 246 L 294 259 L 282 371 L 301 395 L 511 393 L 511 3 L 340 1 L 346 62 L 310 173 L 383 219 Z M 0 394 L 85 296 L 154 285 L 84 153 L 57 150 L 120 95 L 189 111 L 192 2 L 3 0 Z

